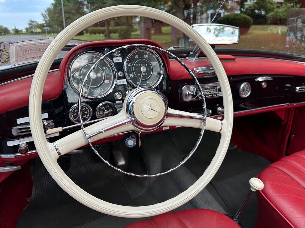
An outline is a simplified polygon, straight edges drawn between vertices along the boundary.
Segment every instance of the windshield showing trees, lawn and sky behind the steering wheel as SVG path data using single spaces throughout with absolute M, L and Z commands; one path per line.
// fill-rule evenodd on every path
M 300 3 L 299 3 L 300 2 Z M 238 44 L 216 48 L 305 54 L 305 5 L 297 0 L 0 0 L 0 42 L 55 37 L 79 17 L 112 5 L 146 5 L 169 12 L 189 25 L 220 23 L 240 28 Z M 218 12 L 218 13 L 217 13 Z M 114 17 L 81 31 L 81 40 L 151 39 L 165 49 L 193 48 L 188 37 L 157 20 Z M 77 43 L 77 41 L 75 41 Z

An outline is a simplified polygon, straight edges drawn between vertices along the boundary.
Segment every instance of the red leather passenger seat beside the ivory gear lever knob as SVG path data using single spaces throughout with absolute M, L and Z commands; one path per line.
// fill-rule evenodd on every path
M 305 227 L 305 150 L 271 164 L 259 175 L 257 228 Z

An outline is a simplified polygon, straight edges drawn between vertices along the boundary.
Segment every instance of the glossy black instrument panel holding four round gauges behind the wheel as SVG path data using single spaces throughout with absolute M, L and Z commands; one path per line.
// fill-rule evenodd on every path
M 168 77 L 159 53 L 147 47 L 132 46 L 101 59 L 117 48 L 85 48 L 71 55 L 66 67 L 63 93 L 72 123 L 80 122 L 77 102 L 82 84 L 81 117 L 85 123 L 117 114 L 127 94 L 136 87 L 156 88 L 166 96 Z

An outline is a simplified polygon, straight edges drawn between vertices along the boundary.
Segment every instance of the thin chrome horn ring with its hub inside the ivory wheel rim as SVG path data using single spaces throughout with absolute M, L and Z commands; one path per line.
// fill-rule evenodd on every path
M 134 174 L 134 173 L 131 173 L 131 172 L 126 172 L 124 170 L 121 170 L 120 168 L 118 167 L 115 167 L 113 166 L 111 163 L 109 163 L 109 161 L 105 160 L 99 153 L 98 151 L 94 148 L 94 146 L 91 144 L 91 141 L 90 139 L 95 136 L 95 135 L 98 135 L 102 132 L 104 132 L 105 130 L 109 130 L 109 128 L 111 128 L 111 126 L 107 129 L 102 129 L 98 132 L 95 132 L 93 134 L 90 134 L 88 135 L 84 129 L 84 125 L 83 125 L 83 120 L 81 119 L 81 97 L 82 97 L 82 94 L 83 94 L 83 88 L 84 88 L 84 85 L 85 85 L 85 82 L 87 81 L 88 79 L 88 76 L 90 75 L 91 71 L 94 70 L 94 68 L 96 67 L 96 65 L 102 61 L 104 58 L 106 58 L 109 54 L 114 54 L 116 51 L 119 51 L 121 49 L 124 49 L 124 48 L 127 48 L 127 47 L 131 47 L 131 48 L 150 48 L 154 51 L 159 51 L 160 53 L 164 53 L 164 54 L 167 54 L 168 56 L 170 56 L 171 58 L 175 59 L 176 61 L 178 61 L 180 63 L 180 65 L 182 65 L 188 72 L 189 75 L 192 76 L 192 78 L 194 79 L 195 81 L 195 84 L 196 86 L 198 87 L 198 90 L 199 90 L 199 93 L 200 93 L 200 99 L 202 100 L 202 107 L 203 107 L 203 117 L 201 118 L 201 120 L 203 121 L 203 125 L 202 125 L 202 128 L 201 128 L 201 132 L 199 133 L 199 138 L 197 140 L 197 142 L 195 143 L 195 146 L 193 147 L 192 151 L 190 153 L 188 153 L 188 155 L 180 162 L 178 163 L 175 167 L 173 168 L 170 168 L 164 172 L 160 172 L 160 173 L 156 173 L 156 174 Z M 143 123 L 143 121 L 141 121 L 140 119 L 140 116 L 141 114 L 137 114 L 135 113 L 135 110 L 134 110 L 134 104 L 137 100 L 137 98 L 139 96 L 141 96 L 142 94 L 145 95 L 145 93 L 153 93 L 153 94 L 156 94 L 156 97 L 160 97 L 160 100 L 159 102 L 157 102 L 159 105 L 160 105 L 160 109 L 162 109 L 162 105 L 164 105 L 164 114 L 163 112 L 161 112 L 160 114 L 160 111 L 157 111 L 155 110 L 156 112 L 158 112 L 158 115 L 160 114 L 161 115 L 161 118 L 160 120 L 156 121 L 155 123 L 153 124 L 145 124 Z M 158 127 L 160 127 L 160 125 L 162 125 L 162 123 L 164 122 L 165 118 L 166 118 L 166 115 L 168 114 L 167 112 L 167 104 L 162 96 L 162 94 L 157 91 L 156 89 L 153 89 L 153 88 L 150 88 L 150 87 L 138 87 L 134 90 L 132 90 L 128 96 L 126 97 L 127 99 L 127 105 L 126 105 L 126 112 L 127 114 L 129 115 L 129 118 L 126 120 L 126 121 L 123 121 L 120 123 L 120 125 L 124 125 L 124 124 L 133 124 L 136 128 L 139 129 L 140 132 L 150 132 L 150 131 L 153 131 L 155 129 L 157 129 Z M 152 99 L 152 100 L 155 100 L 154 98 L 150 98 L 150 97 L 147 97 L 147 99 Z M 147 100 L 146 99 L 146 100 Z M 158 98 L 157 98 L 158 99 Z M 143 103 L 145 102 L 145 100 L 142 101 L 141 103 L 141 109 L 142 109 L 142 106 L 143 106 Z M 151 110 L 151 104 L 149 103 L 149 108 Z M 143 111 L 142 110 L 142 115 L 145 116 L 145 110 Z M 196 78 L 196 76 L 194 75 L 194 73 L 188 68 L 187 65 L 185 65 L 185 63 L 183 63 L 181 61 L 181 59 L 179 59 L 177 56 L 175 56 L 174 54 L 170 53 L 169 51 L 166 51 L 162 48 L 159 48 L 159 47 L 155 47 L 155 46 L 151 46 L 151 45 L 146 45 L 146 44 L 130 44 L 130 45 L 125 45 L 125 46 L 122 46 L 122 47 L 117 47 L 115 49 L 113 49 L 112 51 L 109 51 L 107 52 L 106 54 L 104 54 L 101 58 L 99 58 L 94 65 L 92 65 L 92 67 L 90 68 L 90 70 L 88 71 L 87 75 L 85 76 L 84 80 L 83 80 L 83 83 L 81 85 L 81 88 L 80 88 L 80 93 L 79 93 L 79 97 L 78 97 L 78 115 L 79 115 L 79 119 L 80 119 L 80 125 L 81 125 L 81 129 L 88 141 L 88 144 L 90 145 L 91 149 L 97 154 L 97 156 L 103 161 L 105 162 L 106 164 L 108 164 L 110 167 L 112 167 L 113 169 L 121 172 L 121 173 L 124 173 L 124 174 L 127 174 L 127 175 L 131 175 L 131 176 L 135 176 L 135 177 L 157 177 L 157 176 L 160 176 L 160 175 L 164 175 L 164 174 L 167 174 L 171 171 L 174 171 L 176 170 L 177 168 L 179 168 L 181 165 L 183 165 L 192 155 L 193 153 L 195 153 L 199 143 L 201 142 L 201 139 L 203 137 L 203 133 L 204 133 L 204 129 L 205 129 L 205 124 L 206 124 L 206 103 L 205 103 L 205 99 L 204 99 L 204 96 L 203 96 L 203 91 L 202 91 L 202 88 Z M 183 118 L 183 115 L 178 115 L 180 118 Z M 145 116 L 146 118 L 150 118 L 148 116 Z M 153 117 L 155 118 L 155 117 Z M 151 119 L 153 119 L 151 118 Z M 102 120 L 101 120 L 102 121 Z M 145 121 L 144 121 L 145 122 Z M 116 125 L 117 127 L 117 125 Z

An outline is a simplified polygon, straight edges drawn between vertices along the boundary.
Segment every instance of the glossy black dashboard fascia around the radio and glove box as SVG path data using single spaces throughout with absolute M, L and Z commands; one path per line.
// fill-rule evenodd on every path
M 266 79 L 266 80 L 263 80 Z M 198 78 L 201 86 L 217 82 L 217 77 Z M 244 75 L 229 77 L 234 112 L 246 112 L 249 110 L 305 102 L 305 93 L 296 93 L 297 86 L 304 86 L 304 77 L 286 75 Z M 240 86 L 249 83 L 251 93 L 247 97 L 239 95 Z M 202 113 L 202 103 L 198 99 L 184 101 L 182 90 L 185 85 L 194 85 L 192 80 L 180 80 L 171 82 L 171 90 L 178 93 L 170 94 L 171 107 Z M 219 91 L 220 92 L 220 91 Z M 208 116 L 221 115 L 223 100 L 221 96 L 205 98 Z M 219 110 L 220 108 L 220 110 Z M 217 111 L 218 110 L 218 111 Z

